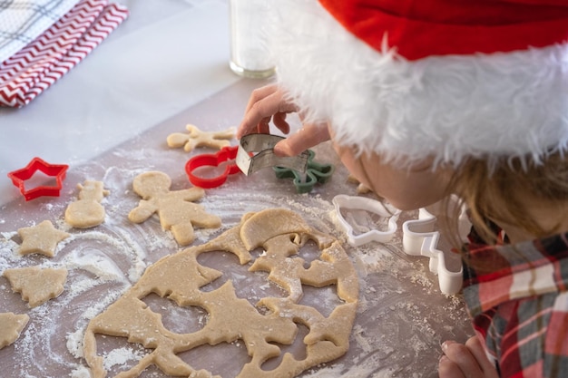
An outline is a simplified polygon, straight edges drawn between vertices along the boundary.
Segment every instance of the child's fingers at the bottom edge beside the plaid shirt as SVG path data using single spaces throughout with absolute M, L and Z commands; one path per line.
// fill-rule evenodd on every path
M 469 338 L 465 344 L 446 341 L 442 351 L 445 355 L 438 366 L 440 378 L 499 378 L 477 336 Z

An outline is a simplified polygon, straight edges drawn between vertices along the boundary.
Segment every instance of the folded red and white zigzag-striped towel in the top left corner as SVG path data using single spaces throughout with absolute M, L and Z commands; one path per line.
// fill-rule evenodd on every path
M 82 0 L 0 63 L 0 106 L 21 107 L 69 72 L 128 16 L 122 5 Z

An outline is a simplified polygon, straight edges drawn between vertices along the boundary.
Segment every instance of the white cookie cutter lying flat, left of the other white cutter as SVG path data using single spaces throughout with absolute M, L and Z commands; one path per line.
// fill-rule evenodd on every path
M 333 198 L 333 204 L 335 205 L 336 212 L 338 214 L 339 224 L 347 234 L 348 243 L 353 247 L 359 247 L 371 241 L 387 243 L 392 240 L 392 238 L 395 236 L 395 233 L 397 232 L 397 220 L 398 216 L 400 215 L 400 210 L 389 210 L 385 207 L 385 205 L 383 205 L 376 199 L 367 199 L 366 197 L 346 196 L 339 194 L 338 196 L 335 196 Z M 372 228 L 368 231 L 356 234 L 353 225 L 348 221 L 348 219 L 343 216 L 341 209 L 375 213 L 380 218 L 387 219 L 387 229 L 379 230 L 377 228 Z

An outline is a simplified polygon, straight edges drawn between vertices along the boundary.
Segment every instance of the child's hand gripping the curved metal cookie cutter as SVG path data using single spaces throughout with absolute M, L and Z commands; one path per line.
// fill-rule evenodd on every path
M 237 129 L 237 138 L 240 139 L 251 132 L 269 133 L 270 120 L 279 131 L 288 134 L 290 127 L 286 115 L 297 111 L 298 106 L 285 98 L 278 85 L 261 87 L 250 95 L 245 115 Z M 274 152 L 279 156 L 294 156 L 328 139 L 327 124 L 304 124 L 300 131 L 279 141 Z

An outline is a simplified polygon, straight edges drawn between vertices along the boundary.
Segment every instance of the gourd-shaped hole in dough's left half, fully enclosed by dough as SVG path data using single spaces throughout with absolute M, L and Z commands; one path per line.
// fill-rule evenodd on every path
M 142 301 L 154 313 L 162 315 L 162 325 L 175 334 L 193 334 L 207 325 L 209 314 L 200 306 L 181 307 L 175 301 L 153 293 Z

